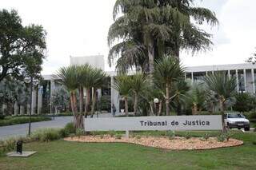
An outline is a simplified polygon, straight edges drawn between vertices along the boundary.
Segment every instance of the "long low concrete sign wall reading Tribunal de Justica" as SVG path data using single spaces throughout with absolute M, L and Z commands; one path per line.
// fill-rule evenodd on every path
M 86 131 L 221 130 L 222 116 L 86 118 Z

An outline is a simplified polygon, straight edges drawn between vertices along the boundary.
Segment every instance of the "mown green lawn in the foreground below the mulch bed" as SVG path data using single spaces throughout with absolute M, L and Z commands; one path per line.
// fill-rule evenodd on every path
M 201 135 L 203 132 L 194 132 Z M 215 134 L 215 132 L 214 132 Z M 25 144 L 30 158 L 0 157 L 0 169 L 255 169 L 256 133 L 235 132 L 240 147 L 170 151 L 135 144 L 96 144 L 57 140 Z

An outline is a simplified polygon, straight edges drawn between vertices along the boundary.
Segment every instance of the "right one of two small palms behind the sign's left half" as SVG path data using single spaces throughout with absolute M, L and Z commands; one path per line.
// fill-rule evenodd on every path
M 148 77 L 142 73 L 135 73 L 130 77 L 130 89 L 134 93 L 134 115 L 137 114 L 138 110 L 138 97 L 146 90 L 148 83 Z

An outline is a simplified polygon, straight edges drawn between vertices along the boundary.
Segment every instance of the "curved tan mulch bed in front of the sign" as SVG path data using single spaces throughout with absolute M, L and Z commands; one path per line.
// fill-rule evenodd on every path
M 143 146 L 149 146 L 154 148 L 164 148 L 164 149 L 174 149 L 174 150 L 202 150 L 202 149 L 212 149 L 212 148 L 225 148 L 232 146 L 239 146 L 243 144 L 242 140 L 230 139 L 229 141 L 219 142 L 216 137 L 210 137 L 205 140 L 200 137 L 192 137 L 186 139 L 185 137 L 175 136 L 174 139 L 170 140 L 164 136 L 141 136 L 122 137 L 121 139 L 116 139 L 114 136 L 110 135 L 104 136 L 75 136 L 67 137 L 64 140 L 67 141 L 78 141 L 87 143 L 111 143 L 111 142 L 122 142 L 131 144 L 140 144 Z

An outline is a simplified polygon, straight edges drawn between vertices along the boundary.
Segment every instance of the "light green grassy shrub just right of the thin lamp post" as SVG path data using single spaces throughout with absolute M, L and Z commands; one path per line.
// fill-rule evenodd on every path
M 51 140 L 58 140 L 61 138 L 60 130 L 56 128 L 45 128 L 45 129 L 38 129 L 37 131 L 33 132 L 31 138 L 34 140 L 40 141 L 51 141 Z

